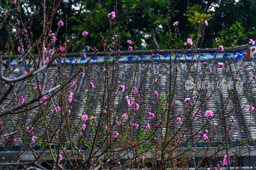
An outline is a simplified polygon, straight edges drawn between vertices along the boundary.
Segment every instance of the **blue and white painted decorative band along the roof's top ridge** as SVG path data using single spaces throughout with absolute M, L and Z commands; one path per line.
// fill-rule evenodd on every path
M 199 60 L 211 60 L 214 58 L 214 55 L 216 53 L 217 48 L 202 48 L 200 51 L 200 57 Z M 186 49 L 186 56 L 181 55 L 181 50 L 177 49 L 177 58 L 180 61 L 184 60 L 191 60 L 193 56 L 194 49 Z M 172 52 L 174 50 L 172 49 Z M 194 58 L 198 58 L 198 52 L 199 48 L 196 49 L 196 56 Z M 245 58 L 255 58 L 256 54 L 256 47 L 255 46 L 249 46 L 248 44 L 234 47 L 234 48 L 225 48 L 225 53 L 218 51 L 219 54 L 216 55 L 217 60 L 223 60 L 223 59 L 241 59 L 245 56 Z M 111 52 L 110 52 L 111 53 Z M 86 53 L 87 57 L 83 58 L 81 57 L 82 53 L 79 54 L 79 57 L 77 57 L 77 53 L 66 53 L 65 63 L 66 64 L 77 64 L 77 63 L 86 63 L 88 58 L 90 56 L 94 55 L 95 52 L 89 52 Z M 140 51 L 125 51 L 118 57 L 119 62 L 137 62 L 137 61 L 149 61 L 150 59 L 153 59 L 154 61 L 168 61 L 170 59 L 170 51 L 169 50 L 158 50 L 156 55 L 156 52 L 153 53 L 154 56 L 151 58 L 152 50 L 140 50 Z M 234 55 L 233 55 L 234 54 Z M 16 58 L 18 58 L 20 55 L 16 55 Z M 160 59 L 159 59 L 160 57 Z M 3 60 L 6 61 L 8 58 L 7 56 L 3 57 Z M 172 60 L 175 60 L 175 58 L 172 56 Z M 91 63 L 104 63 L 104 52 L 97 52 L 94 57 L 92 57 Z M 17 63 L 14 56 L 11 56 L 11 65 L 15 65 Z M 57 60 L 56 60 L 57 63 Z M 63 63 L 63 61 L 61 62 Z

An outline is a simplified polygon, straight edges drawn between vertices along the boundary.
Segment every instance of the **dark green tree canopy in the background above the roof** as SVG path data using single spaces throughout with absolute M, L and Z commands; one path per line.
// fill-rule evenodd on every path
M 42 2 L 42 0 L 27 1 L 26 4 L 20 6 L 20 11 L 18 12 L 22 18 L 20 22 L 26 23 L 25 28 L 33 33 L 33 41 L 38 39 L 39 34 L 37 33 L 42 31 L 40 30 L 42 29 L 44 9 Z M 46 11 L 51 14 L 52 9 L 47 7 L 51 6 L 53 2 L 46 2 L 48 3 L 46 3 Z M 75 37 L 96 3 L 97 1 L 95 0 L 64 0 L 60 3 L 60 7 L 52 21 L 52 23 L 57 23 L 62 20 L 65 25 L 57 33 L 58 42 L 63 42 L 66 36 L 69 40 Z M 248 43 L 249 38 L 256 39 L 254 26 L 256 18 L 253 17 L 256 12 L 254 8 L 256 2 L 254 0 L 182 0 L 170 1 L 169 3 L 172 7 L 170 9 L 172 22 L 179 21 L 178 27 L 182 41 L 178 44 L 178 48 L 181 48 L 181 44 L 184 44 L 187 38 L 193 41 L 196 38 L 200 39 L 204 20 L 208 21 L 208 26 L 204 30 L 202 48 L 216 47 L 221 34 L 222 23 L 225 24 L 223 40 L 221 41 L 224 47 L 239 46 Z M 5 10 L 8 10 L 11 1 L 1 0 L 0 4 L 1 11 L 4 13 Z M 134 49 L 153 49 L 154 45 L 155 48 L 168 49 L 168 36 L 166 36 L 168 32 L 168 9 L 166 1 L 104 0 L 97 6 L 85 26 L 84 31 L 88 32 L 86 40 L 84 41 L 83 36 L 80 34 L 78 41 L 73 44 L 69 52 L 77 52 L 82 48 L 91 50 L 92 47 L 98 47 L 102 39 L 100 35 L 104 36 L 108 33 L 110 26 L 108 13 L 111 11 L 116 13 L 113 28 L 115 28 L 119 36 L 123 37 L 123 42 L 120 45 L 124 50 L 127 50 L 129 46 L 126 43 L 127 40 L 136 42 Z M 11 8 L 10 15 L 13 15 L 14 12 Z M 31 18 L 28 17 L 28 13 L 33 14 Z M 201 30 L 198 21 L 201 22 Z M 4 51 L 8 29 L 10 28 L 6 27 L 5 31 L 0 33 L 0 51 Z M 58 26 L 52 24 L 51 29 L 56 32 Z M 174 26 L 171 29 L 171 41 L 173 40 L 174 44 Z

